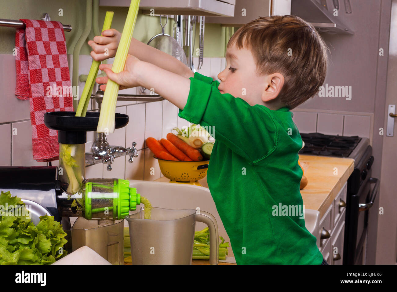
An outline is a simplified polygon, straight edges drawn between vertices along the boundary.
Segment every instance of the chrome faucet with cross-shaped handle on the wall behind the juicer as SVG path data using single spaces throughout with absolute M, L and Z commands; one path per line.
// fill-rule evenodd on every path
M 106 170 L 112 170 L 111 164 L 113 164 L 116 157 L 124 155 L 129 156 L 128 162 L 133 162 L 133 157 L 138 157 L 138 151 L 135 148 L 136 142 L 132 142 L 132 148 L 124 148 L 122 146 L 109 145 L 106 140 L 105 133 L 96 133 L 96 141 L 94 141 L 90 152 L 85 153 L 85 162 L 89 164 L 103 163 L 108 164 Z

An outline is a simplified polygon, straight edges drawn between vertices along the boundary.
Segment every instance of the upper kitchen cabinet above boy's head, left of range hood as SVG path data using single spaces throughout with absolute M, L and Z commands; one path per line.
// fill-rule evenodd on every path
M 205 22 L 221 23 L 222 26 L 239 27 L 259 16 L 288 14 L 291 14 L 291 0 L 236 0 L 233 17 L 205 17 Z

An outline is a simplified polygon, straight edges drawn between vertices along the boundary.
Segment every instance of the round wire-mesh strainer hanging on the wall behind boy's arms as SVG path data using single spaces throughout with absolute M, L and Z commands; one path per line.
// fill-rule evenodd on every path
M 167 33 L 164 33 L 165 27 L 168 23 L 168 15 L 164 26 L 161 22 L 161 17 L 162 16 L 160 15 L 160 25 L 162 27 L 162 33 L 159 33 L 158 35 L 152 37 L 147 44 L 152 43 L 150 45 L 153 46 L 154 48 L 177 58 L 183 64 L 188 66 L 186 55 L 185 52 L 183 51 L 183 48 L 172 36 L 168 35 Z M 140 92 L 141 94 L 144 94 L 145 91 L 146 91 L 145 87 L 138 87 L 138 92 Z

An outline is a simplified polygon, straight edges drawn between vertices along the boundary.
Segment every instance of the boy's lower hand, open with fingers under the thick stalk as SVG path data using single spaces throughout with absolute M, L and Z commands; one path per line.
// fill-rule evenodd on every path
M 137 69 L 138 64 L 140 63 L 141 60 L 139 60 L 135 56 L 128 54 L 127 60 L 125 60 L 124 71 L 121 71 L 120 73 L 114 73 L 111 70 L 113 66 L 112 64 L 100 64 L 99 69 L 103 70 L 108 76 L 98 77 L 96 78 L 95 82 L 98 84 L 107 83 L 108 79 L 110 79 L 120 85 L 120 90 L 140 86 L 141 84 L 138 83 L 139 70 Z M 105 90 L 105 88 L 106 85 L 100 86 L 101 90 Z

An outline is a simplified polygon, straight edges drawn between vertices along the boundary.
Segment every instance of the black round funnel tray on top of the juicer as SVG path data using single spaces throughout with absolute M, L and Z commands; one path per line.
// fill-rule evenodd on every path
M 46 112 L 44 124 L 47 128 L 58 131 L 58 142 L 62 144 L 84 144 L 87 142 L 87 132 L 96 131 L 99 112 L 87 112 L 85 117 L 75 116 L 76 112 Z M 115 116 L 115 129 L 128 124 L 126 114 Z

